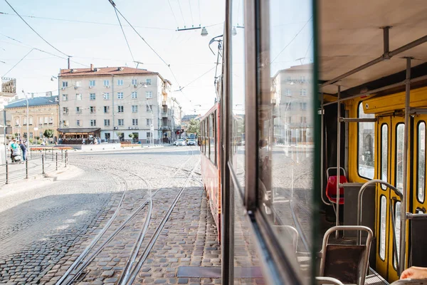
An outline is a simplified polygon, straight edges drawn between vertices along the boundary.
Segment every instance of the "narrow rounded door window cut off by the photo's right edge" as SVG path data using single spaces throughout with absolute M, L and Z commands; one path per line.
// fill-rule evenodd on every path
M 418 123 L 418 167 L 417 167 L 417 199 L 424 202 L 426 189 L 426 123 Z

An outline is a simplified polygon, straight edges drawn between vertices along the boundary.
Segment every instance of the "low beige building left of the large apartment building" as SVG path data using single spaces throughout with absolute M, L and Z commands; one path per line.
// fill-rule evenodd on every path
M 29 138 L 31 142 L 37 137 L 43 139 L 46 130 L 53 130 L 53 138 L 50 141 L 55 142 L 58 139 L 58 96 L 28 98 L 28 122 L 26 99 L 11 101 L 4 109 L 6 126 L 11 128 L 12 135 Z M 44 139 L 48 140 L 48 138 Z

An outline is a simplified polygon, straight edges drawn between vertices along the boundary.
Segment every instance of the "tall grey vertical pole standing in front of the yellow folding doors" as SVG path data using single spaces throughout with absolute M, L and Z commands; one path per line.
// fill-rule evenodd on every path
M 400 228 L 400 253 L 399 276 L 406 267 L 406 211 L 408 209 L 408 138 L 409 138 L 409 107 L 411 103 L 411 58 L 406 58 L 406 96 L 405 96 L 405 138 L 404 138 L 404 181 L 401 202 L 401 228 Z

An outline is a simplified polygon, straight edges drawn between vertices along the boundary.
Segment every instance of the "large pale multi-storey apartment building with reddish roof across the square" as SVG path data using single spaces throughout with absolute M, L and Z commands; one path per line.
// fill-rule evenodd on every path
M 130 67 L 60 70 L 63 143 L 151 142 L 172 139 L 181 106 L 159 73 Z

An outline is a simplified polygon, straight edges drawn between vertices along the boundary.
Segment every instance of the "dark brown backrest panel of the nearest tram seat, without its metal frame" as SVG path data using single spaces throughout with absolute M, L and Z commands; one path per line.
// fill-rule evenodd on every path
M 323 275 L 343 284 L 359 284 L 360 264 L 366 249 L 365 245 L 328 244 Z

